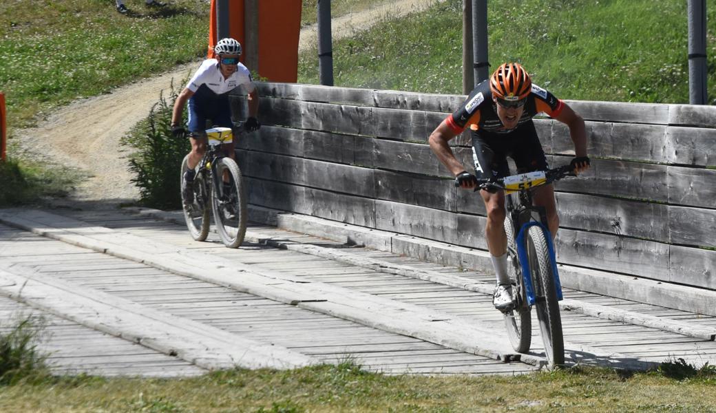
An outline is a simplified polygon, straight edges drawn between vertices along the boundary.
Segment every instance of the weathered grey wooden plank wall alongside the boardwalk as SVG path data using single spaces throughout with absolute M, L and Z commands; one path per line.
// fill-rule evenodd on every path
M 485 210 L 427 137 L 464 96 L 259 84 L 263 127 L 239 144 L 249 202 L 486 249 Z M 568 101 L 592 167 L 556 184 L 558 261 L 716 289 L 716 107 Z M 535 120 L 551 165 L 569 130 Z M 454 140 L 472 165 L 467 135 Z

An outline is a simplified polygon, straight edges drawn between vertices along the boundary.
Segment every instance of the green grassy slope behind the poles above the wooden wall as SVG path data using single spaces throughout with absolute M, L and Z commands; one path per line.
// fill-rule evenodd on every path
M 709 7 L 709 32 L 716 8 Z M 462 92 L 462 0 L 334 42 L 337 86 Z M 686 2 L 488 2 L 489 61 L 518 61 L 562 99 L 688 103 Z M 716 37 L 707 42 L 716 98 Z M 319 82 L 316 51 L 301 54 L 299 82 Z

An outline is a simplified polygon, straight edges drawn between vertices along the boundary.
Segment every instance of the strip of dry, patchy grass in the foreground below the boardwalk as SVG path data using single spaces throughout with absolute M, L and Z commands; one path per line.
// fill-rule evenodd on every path
M 218 371 L 189 379 L 48 378 L 0 389 L 0 410 L 714 412 L 715 384 L 712 369 L 680 378 L 663 371 L 624 374 L 595 368 L 521 376 L 428 377 L 366 373 L 346 362 L 291 371 Z

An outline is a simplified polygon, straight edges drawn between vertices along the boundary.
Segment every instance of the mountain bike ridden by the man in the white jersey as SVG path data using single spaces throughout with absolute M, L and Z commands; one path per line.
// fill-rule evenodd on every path
M 192 238 L 206 239 L 209 233 L 209 205 L 213 212 L 216 232 L 228 248 L 241 246 L 246 235 L 248 209 L 241 169 L 224 154 L 221 145 L 231 143 L 236 135 L 243 135 L 243 125 L 235 128 L 213 127 L 206 130 L 208 147 L 195 170 L 194 199 L 187 202 L 182 194 L 186 226 Z M 189 155 L 181 165 L 180 184 L 183 188 L 184 171 L 188 169 Z

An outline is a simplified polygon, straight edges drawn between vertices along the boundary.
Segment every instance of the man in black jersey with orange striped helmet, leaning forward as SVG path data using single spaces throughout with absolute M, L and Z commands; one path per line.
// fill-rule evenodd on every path
M 578 174 L 587 170 L 584 120 L 566 103 L 532 84 L 529 74 L 518 63 L 501 65 L 490 79 L 478 84 L 458 110 L 432 131 L 430 148 L 463 189 L 477 190 L 475 175 L 486 179 L 510 175 L 508 156 L 515 161 L 518 173 L 547 170 L 547 160 L 532 122 L 540 112 L 569 126 L 576 155 L 571 163 Z M 448 145 L 468 127 L 472 131 L 475 175 L 465 170 Z M 487 210 L 485 235 L 497 278 L 493 304 L 500 311 L 509 311 L 513 308 L 513 296 L 507 273 L 507 235 L 503 227 L 505 194 L 487 185 L 480 188 L 480 195 Z M 536 189 L 533 200 L 546 208 L 549 230 L 554 237 L 559 218 L 553 185 Z

